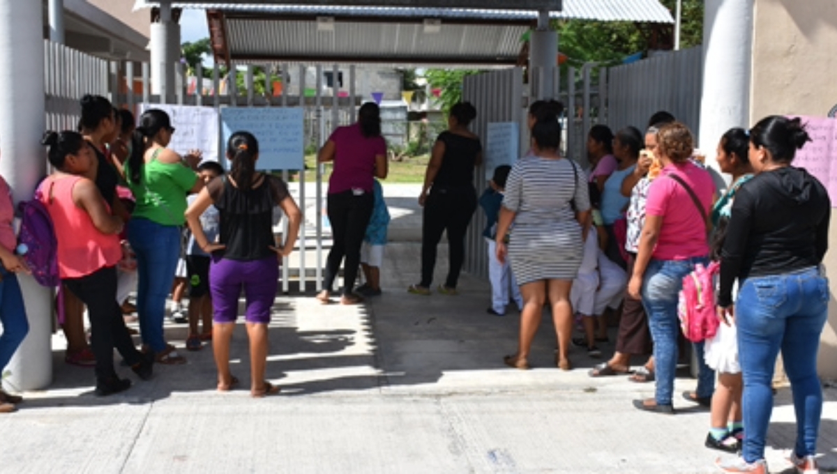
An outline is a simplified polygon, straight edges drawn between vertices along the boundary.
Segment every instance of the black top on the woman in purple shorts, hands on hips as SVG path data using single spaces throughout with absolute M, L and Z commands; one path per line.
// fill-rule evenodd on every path
M 223 257 L 249 262 L 275 256 L 273 208 L 290 196 L 288 186 L 276 176 L 256 175 L 252 189 L 242 191 L 227 176 L 207 185 L 220 216 L 219 242 Z

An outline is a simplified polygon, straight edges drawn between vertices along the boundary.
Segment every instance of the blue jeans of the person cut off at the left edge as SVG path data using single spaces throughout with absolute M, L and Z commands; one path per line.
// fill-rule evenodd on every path
M 3 372 L 29 332 L 29 322 L 26 319 L 26 308 L 23 307 L 18 276 L 0 264 L 0 277 L 3 278 L 0 281 L 0 323 L 3 323 L 3 334 L 0 334 L 0 372 Z

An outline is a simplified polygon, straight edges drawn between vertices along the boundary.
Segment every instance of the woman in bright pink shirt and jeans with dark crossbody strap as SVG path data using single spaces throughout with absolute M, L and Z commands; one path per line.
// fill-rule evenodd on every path
M 657 133 L 655 155 L 663 169 L 648 190 L 645 224 L 628 285 L 631 297 L 642 298 L 654 339 L 655 398 L 634 400 L 639 410 L 674 413 L 671 399 L 680 334 L 677 294 L 696 263 L 709 262 L 706 209 L 715 185 L 706 170 L 690 161 L 693 143 L 691 131 L 680 122 L 664 125 Z M 703 364 L 701 348 L 696 349 L 701 364 L 697 400 L 702 400 L 711 396 L 709 380 L 715 375 Z

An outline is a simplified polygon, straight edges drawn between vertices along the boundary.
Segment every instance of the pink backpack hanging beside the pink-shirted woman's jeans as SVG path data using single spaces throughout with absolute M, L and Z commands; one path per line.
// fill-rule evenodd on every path
M 715 275 L 720 270 L 718 262 L 708 267 L 701 263 L 683 278 L 683 289 L 677 303 L 677 315 L 683 335 L 691 342 L 711 339 L 718 330 L 715 313 Z

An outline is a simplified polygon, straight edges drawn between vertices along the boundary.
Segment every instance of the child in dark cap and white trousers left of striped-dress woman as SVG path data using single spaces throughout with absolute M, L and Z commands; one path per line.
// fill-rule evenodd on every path
M 488 181 L 488 187 L 480 196 L 480 207 L 485 212 L 485 230 L 482 235 L 488 242 L 488 277 L 491 282 L 491 306 L 485 311 L 495 316 L 506 314 L 510 287 L 511 297 L 514 298 L 517 309 L 523 308 L 520 287 L 517 286 L 515 276 L 511 273 L 509 262 L 501 263 L 497 260 L 496 242 L 494 242 L 497 237 L 497 217 L 500 214 L 503 191 L 506 188 L 506 179 L 510 171 L 511 166 L 497 166 L 494 169 L 494 176 Z

